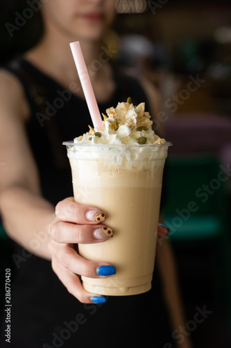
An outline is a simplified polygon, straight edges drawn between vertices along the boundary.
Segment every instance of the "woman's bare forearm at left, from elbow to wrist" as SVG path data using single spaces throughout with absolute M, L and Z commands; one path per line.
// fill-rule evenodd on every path
M 10 238 L 31 253 L 50 260 L 48 226 L 55 219 L 53 205 L 23 187 L 9 187 L 0 195 L 3 227 Z

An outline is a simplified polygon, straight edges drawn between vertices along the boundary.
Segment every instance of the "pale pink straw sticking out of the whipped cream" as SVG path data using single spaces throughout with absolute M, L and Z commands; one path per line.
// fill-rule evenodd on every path
M 91 81 L 89 79 L 89 74 L 83 58 L 83 52 L 78 41 L 70 43 L 71 52 L 73 54 L 74 61 L 76 63 L 76 68 L 78 71 L 78 76 L 80 78 L 81 85 L 83 87 L 83 93 L 87 102 L 89 113 L 92 118 L 94 127 L 103 129 L 103 121 L 101 119 L 101 114 L 99 112 L 99 107 L 96 102 L 96 97 L 92 88 Z

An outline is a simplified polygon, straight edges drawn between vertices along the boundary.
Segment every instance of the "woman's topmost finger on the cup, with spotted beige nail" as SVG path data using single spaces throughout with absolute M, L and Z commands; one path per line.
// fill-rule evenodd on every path
M 62 221 L 80 224 L 96 224 L 105 220 L 105 212 L 91 205 L 80 205 L 74 198 L 65 198 L 55 207 L 55 214 Z

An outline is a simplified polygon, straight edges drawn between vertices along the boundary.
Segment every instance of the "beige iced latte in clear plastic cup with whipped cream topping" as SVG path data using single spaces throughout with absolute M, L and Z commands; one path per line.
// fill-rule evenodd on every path
M 119 103 L 107 113 L 105 129 L 65 143 L 76 202 L 102 209 L 103 224 L 114 231 L 107 242 L 78 244 L 84 258 L 117 270 L 108 278 L 82 276 L 83 287 L 102 295 L 140 294 L 151 289 L 169 143 L 154 134 L 144 104 Z

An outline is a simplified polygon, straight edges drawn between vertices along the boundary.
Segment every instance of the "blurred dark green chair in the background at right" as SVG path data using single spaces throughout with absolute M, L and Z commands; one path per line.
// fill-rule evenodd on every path
M 198 248 L 210 248 L 214 304 L 225 308 L 231 331 L 228 171 L 215 157 L 175 156 L 166 161 L 164 221 L 171 230 L 169 238 L 177 250 L 195 251 L 195 258 Z

